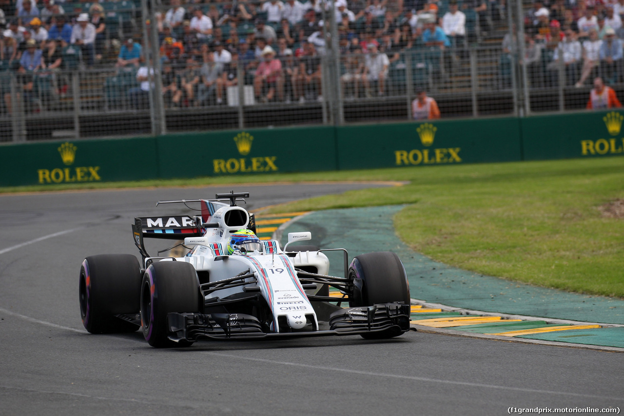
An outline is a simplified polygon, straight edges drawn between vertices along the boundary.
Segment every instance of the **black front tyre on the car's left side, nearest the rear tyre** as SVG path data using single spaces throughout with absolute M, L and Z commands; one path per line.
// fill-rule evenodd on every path
M 145 340 L 157 348 L 192 345 L 192 342 L 168 339 L 167 314 L 198 312 L 199 300 L 200 289 L 195 267 L 177 261 L 151 264 L 145 270 L 140 290 L 141 323 Z

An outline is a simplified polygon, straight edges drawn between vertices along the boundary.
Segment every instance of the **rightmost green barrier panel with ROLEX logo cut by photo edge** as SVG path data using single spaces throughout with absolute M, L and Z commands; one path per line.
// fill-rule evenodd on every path
M 622 155 L 619 111 L 527 117 L 520 121 L 524 160 Z

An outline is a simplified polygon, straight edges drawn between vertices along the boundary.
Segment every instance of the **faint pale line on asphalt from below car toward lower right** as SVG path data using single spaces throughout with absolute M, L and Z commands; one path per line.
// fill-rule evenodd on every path
M 607 397 L 607 396 L 598 396 L 598 395 L 593 395 L 593 394 L 555 392 L 552 390 L 525 389 L 524 387 L 507 387 L 507 386 L 494 385 L 494 384 L 482 384 L 482 383 L 461 382 L 461 381 L 454 381 L 454 380 L 429 379 L 428 377 L 416 377 L 414 375 L 397 375 L 397 374 L 387 374 L 387 373 L 376 373 L 372 371 L 363 371 L 363 370 L 338 369 L 336 367 L 326 367 L 323 365 L 310 365 L 310 364 L 300 364 L 296 362 L 284 362 L 284 361 L 273 361 L 273 360 L 267 360 L 267 359 L 256 359 L 256 358 L 251 358 L 251 357 L 241 357 L 240 355 L 223 354 L 221 352 L 202 352 L 202 354 L 218 355 L 220 357 L 228 357 L 228 358 L 234 358 L 238 360 L 265 362 L 267 364 L 292 365 L 294 367 L 304 367 L 306 369 L 323 370 L 323 371 L 338 371 L 338 372 L 349 373 L 349 374 L 369 375 L 373 377 L 389 377 L 391 379 L 417 380 L 417 381 L 422 381 L 422 382 L 427 382 L 427 383 L 467 385 L 469 387 L 481 387 L 481 388 L 485 387 L 486 389 L 511 390 L 515 392 L 527 392 L 527 393 L 551 394 L 551 395 L 556 394 L 556 395 L 575 396 L 575 397 L 591 397 L 592 399 L 609 399 L 609 400 L 617 400 L 618 402 L 624 401 L 622 397 Z

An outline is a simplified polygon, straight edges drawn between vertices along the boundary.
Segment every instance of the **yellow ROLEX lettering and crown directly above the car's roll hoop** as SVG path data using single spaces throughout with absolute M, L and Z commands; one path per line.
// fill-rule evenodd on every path
M 247 132 L 238 133 L 233 141 L 236 150 L 241 156 L 247 156 L 251 152 L 253 136 Z M 238 157 L 232 159 L 213 159 L 213 173 L 215 174 L 235 174 L 241 172 L 276 172 L 278 167 L 275 164 L 277 156 L 262 157 Z

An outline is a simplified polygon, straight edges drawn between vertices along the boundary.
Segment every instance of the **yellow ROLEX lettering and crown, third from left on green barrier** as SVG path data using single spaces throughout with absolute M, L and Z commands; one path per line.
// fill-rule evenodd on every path
M 437 127 L 431 123 L 423 123 L 416 128 L 422 146 L 432 146 L 436 138 Z M 438 149 L 412 149 L 394 151 L 396 166 L 420 164 L 461 163 L 459 156 L 461 147 L 441 147 Z

